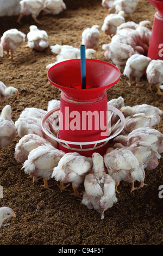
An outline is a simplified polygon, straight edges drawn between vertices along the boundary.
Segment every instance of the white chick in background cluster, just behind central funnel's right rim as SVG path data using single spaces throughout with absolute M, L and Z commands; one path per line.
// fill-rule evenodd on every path
M 102 49 L 105 50 L 105 58 L 111 60 L 120 70 L 122 70 L 128 58 L 135 54 L 133 47 L 122 44 L 121 42 L 117 44 L 105 44 L 102 46 Z

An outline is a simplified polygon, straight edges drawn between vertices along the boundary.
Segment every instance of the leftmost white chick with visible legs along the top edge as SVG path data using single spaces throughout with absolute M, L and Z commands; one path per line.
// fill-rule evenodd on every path
M 37 20 L 37 16 L 39 15 L 40 11 L 43 10 L 45 0 L 21 0 L 20 1 L 20 14 L 18 16 L 17 22 L 20 23 L 22 16 L 29 16 L 32 15 L 33 20 L 36 23 L 40 23 Z

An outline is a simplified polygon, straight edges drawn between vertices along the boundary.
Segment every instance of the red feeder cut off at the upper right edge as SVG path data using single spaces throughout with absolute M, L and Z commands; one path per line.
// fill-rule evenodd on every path
M 154 15 L 151 40 L 148 48 L 148 57 L 163 59 L 163 0 L 148 0 L 157 10 Z

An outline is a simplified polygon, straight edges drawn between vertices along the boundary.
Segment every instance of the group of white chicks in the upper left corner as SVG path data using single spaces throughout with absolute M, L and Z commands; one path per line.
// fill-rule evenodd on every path
M 37 20 L 41 10 L 44 13 L 51 13 L 53 15 L 59 14 L 61 11 L 66 9 L 66 5 L 62 0 L 21 0 L 20 1 L 20 15 L 17 22 L 21 22 L 23 15 L 32 15 L 36 23 L 40 22 Z M 4 51 L 7 51 L 9 59 L 13 60 L 13 53 L 22 42 L 25 41 L 26 34 L 18 31 L 16 28 L 8 29 L 1 37 L 1 47 Z M 29 33 L 27 34 L 28 46 L 37 51 L 43 51 L 49 46 L 48 34 L 46 31 L 39 30 L 36 26 L 29 27 Z

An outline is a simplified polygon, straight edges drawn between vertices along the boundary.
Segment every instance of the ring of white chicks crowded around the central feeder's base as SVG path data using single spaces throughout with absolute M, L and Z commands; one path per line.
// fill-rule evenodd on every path
M 49 179 L 57 181 L 60 191 L 67 191 L 72 185 L 73 195 L 82 201 L 88 209 L 95 209 L 104 218 L 104 212 L 117 202 L 116 193 L 121 181 L 131 184 L 130 191 L 145 185 L 145 172 L 155 169 L 163 153 L 163 135 L 153 126 L 160 123 L 163 113 L 159 108 L 142 104 L 134 107 L 125 106 L 123 97 L 108 101 L 108 107 L 113 106 L 125 117 L 124 129 L 109 144 L 104 156 L 93 153 L 91 157 L 77 152 L 65 153 L 58 149 L 58 143 L 49 140 L 42 131 L 41 121 L 46 113 L 60 107 L 60 100 L 48 102 L 47 111 L 37 108 L 25 108 L 20 117 L 11 120 L 11 107 L 5 106 L 1 113 L 0 142 L 1 147 L 8 141 L 14 141 L 17 132 L 20 140 L 15 146 L 14 157 L 22 164 L 24 172 L 33 182 L 43 180 L 41 187 L 52 190 L 48 185 Z M 109 108 L 108 108 L 109 109 Z M 50 116 L 53 122 L 53 116 Z M 4 129 L 8 122 L 13 129 Z M 116 117 L 111 120 L 112 126 Z M 47 123 L 51 130 L 50 124 Z M 4 135 L 5 131 L 5 135 Z M 8 133 L 8 135 L 7 135 Z M 7 139 L 8 137 L 8 139 Z M 138 187 L 134 182 L 139 181 Z M 82 193 L 78 192 L 84 186 Z M 71 190 L 69 190 L 71 191 Z

